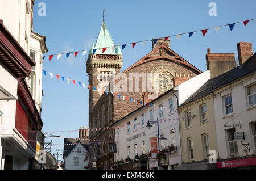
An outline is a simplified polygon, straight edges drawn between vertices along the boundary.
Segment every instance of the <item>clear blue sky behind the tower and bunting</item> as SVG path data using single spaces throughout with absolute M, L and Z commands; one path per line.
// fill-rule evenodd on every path
M 46 3 L 46 16 L 38 15 L 38 3 Z M 217 5 L 217 16 L 209 16 L 210 2 Z M 165 37 L 178 33 L 203 30 L 222 24 L 256 18 L 256 1 L 81 1 L 81 0 L 37 0 L 34 5 L 34 30 L 46 36 L 48 53 L 65 53 L 75 50 L 90 49 L 96 41 L 102 23 L 102 10 L 105 9 L 105 23 L 115 44 L 133 43 L 149 40 L 153 37 Z M 205 54 L 207 48 L 212 53 L 236 53 L 237 43 L 253 43 L 256 49 L 256 20 L 236 24 L 230 32 L 229 27 L 221 27 L 216 35 L 214 29 L 208 30 L 203 37 L 201 32 L 171 38 L 171 49 L 201 71 L 206 70 Z M 151 42 L 127 45 L 123 53 L 125 70 L 152 49 Z M 82 53 L 68 59 L 63 55 L 49 61 L 46 57 L 43 69 L 88 83 L 86 74 L 86 56 Z M 43 132 L 79 129 L 88 125 L 88 89 L 67 80 L 51 79 L 49 74 L 43 77 L 42 120 Z M 64 132 L 64 137 L 77 138 L 78 133 Z M 47 138 L 46 141 L 50 139 Z M 53 138 L 56 144 L 63 143 L 63 138 Z M 63 146 L 52 146 L 63 149 Z M 56 153 L 54 151 L 53 153 Z M 60 159 L 60 157 L 59 157 Z

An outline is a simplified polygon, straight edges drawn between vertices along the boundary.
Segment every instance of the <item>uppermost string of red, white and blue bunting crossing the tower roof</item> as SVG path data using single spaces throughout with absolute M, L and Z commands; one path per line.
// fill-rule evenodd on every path
M 203 30 L 196 30 L 196 31 L 191 31 L 191 32 L 179 33 L 179 34 L 176 34 L 176 35 L 158 37 L 158 38 L 153 39 L 153 40 L 154 40 L 154 44 L 156 44 L 156 42 L 158 41 L 158 39 L 167 40 L 169 37 L 174 37 L 174 36 L 177 36 L 177 40 L 179 40 L 181 35 L 188 34 L 189 37 L 191 37 L 191 36 L 193 35 L 193 33 L 199 32 L 199 31 L 201 31 L 201 32 L 203 33 L 203 36 L 205 36 L 205 33 L 206 33 L 209 29 L 213 29 L 213 28 L 215 29 L 216 34 L 217 34 L 218 31 L 220 31 L 220 27 L 224 27 L 224 26 L 229 26 L 230 31 L 232 31 L 235 24 L 237 24 L 237 23 L 243 23 L 243 25 L 246 26 L 247 23 L 249 23 L 249 21 L 252 21 L 252 20 L 255 20 L 255 19 L 256 19 L 256 18 L 254 18 L 254 19 L 249 19 L 249 20 L 244 20 L 244 21 L 241 21 L 241 22 L 231 23 L 231 24 L 224 24 L 224 25 L 217 26 L 217 27 L 204 28 Z M 146 43 L 146 41 L 151 41 L 151 39 L 150 39 L 150 40 L 136 41 L 136 42 L 133 42 L 133 43 L 126 43 L 126 44 L 121 44 L 121 45 L 118 44 L 118 45 L 114 45 L 114 46 L 111 46 L 111 47 L 101 47 L 101 48 L 98 48 L 98 49 L 102 49 L 102 53 L 104 53 L 107 48 L 112 48 L 112 52 L 114 52 L 114 50 L 115 50 L 118 46 L 121 46 L 122 49 L 125 49 L 126 45 L 131 44 L 132 47 L 134 48 L 137 43 L 142 43 L 142 45 L 144 46 L 145 43 Z M 94 54 L 94 53 L 96 52 L 96 50 L 97 50 L 97 49 L 93 49 L 93 52 L 92 52 L 92 53 Z M 43 60 L 44 60 L 45 57 L 49 57 L 49 61 L 51 61 L 51 60 L 52 60 L 52 57 L 55 56 L 55 55 L 57 55 L 57 60 L 58 60 L 58 59 L 61 57 L 61 54 L 66 54 L 66 58 L 68 58 L 71 53 L 75 53 L 75 57 L 76 57 L 76 56 L 77 56 L 77 53 L 79 53 L 79 52 L 83 52 L 82 55 L 84 56 L 84 55 L 86 54 L 86 52 L 88 52 L 88 51 L 90 51 L 90 50 L 89 50 L 89 49 L 88 49 L 88 50 L 77 50 L 77 51 L 75 51 L 75 52 L 67 52 L 67 53 L 57 53 L 57 54 L 51 54 L 51 55 L 44 55 L 44 56 L 43 56 Z

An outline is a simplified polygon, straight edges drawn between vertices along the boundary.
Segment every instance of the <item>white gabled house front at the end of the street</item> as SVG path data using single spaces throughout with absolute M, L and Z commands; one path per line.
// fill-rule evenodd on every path
M 81 148 L 81 153 L 76 153 L 75 151 L 79 148 Z M 86 153 L 89 154 L 84 146 L 76 145 L 71 153 L 69 153 L 67 157 L 64 157 L 65 170 L 86 170 L 84 167 L 88 166 L 89 163 L 89 157 L 84 161 Z M 74 157 L 79 157 L 79 165 L 74 165 Z

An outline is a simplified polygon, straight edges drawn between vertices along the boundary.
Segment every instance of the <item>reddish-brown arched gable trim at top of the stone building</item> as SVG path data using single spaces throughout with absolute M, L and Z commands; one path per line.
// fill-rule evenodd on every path
M 159 50 L 162 49 L 163 54 L 162 56 L 155 56 L 154 53 Z M 167 50 L 167 52 L 169 52 L 169 54 L 172 54 L 173 56 L 166 56 L 164 53 L 164 49 Z M 126 70 L 123 71 L 123 73 L 126 73 L 127 71 L 129 71 L 130 69 L 135 68 L 136 66 L 139 66 L 141 64 L 144 64 L 146 62 L 149 61 L 153 61 L 153 60 L 158 60 L 158 59 L 167 59 L 167 60 L 171 60 L 174 62 L 177 62 L 179 64 L 183 64 L 186 66 L 189 66 L 191 69 L 197 71 L 197 73 L 202 73 L 199 69 L 197 69 L 195 66 L 193 66 L 192 64 L 190 64 L 188 61 L 186 61 L 184 58 L 182 58 L 181 56 L 179 56 L 179 54 L 175 53 L 173 50 L 171 50 L 170 48 L 168 48 L 166 45 L 161 44 L 159 47 L 155 48 L 154 50 L 152 50 L 150 53 L 146 54 L 146 56 L 142 57 L 140 60 L 138 60 L 137 62 L 135 62 L 133 65 L 131 65 L 129 68 L 127 68 Z

